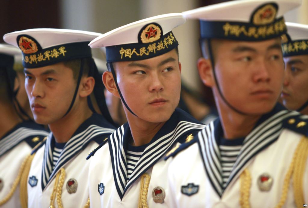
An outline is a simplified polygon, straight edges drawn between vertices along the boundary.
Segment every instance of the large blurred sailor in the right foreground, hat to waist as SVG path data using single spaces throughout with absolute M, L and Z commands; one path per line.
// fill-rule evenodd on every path
M 199 75 L 219 118 L 166 158 L 170 207 L 302 207 L 308 128 L 277 104 L 283 14 L 298 0 L 231 1 L 184 12 L 200 19 Z

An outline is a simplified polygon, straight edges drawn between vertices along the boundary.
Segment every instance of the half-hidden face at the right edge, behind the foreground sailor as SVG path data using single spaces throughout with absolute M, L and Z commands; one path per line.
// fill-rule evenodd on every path
M 283 60 L 286 68 L 282 103 L 290 110 L 297 110 L 308 100 L 308 55 L 291 56 Z

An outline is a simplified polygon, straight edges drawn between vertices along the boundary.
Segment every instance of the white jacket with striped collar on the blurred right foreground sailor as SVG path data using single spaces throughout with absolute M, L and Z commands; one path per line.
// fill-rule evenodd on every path
M 212 121 L 166 158 L 170 207 L 291 208 L 295 197 L 303 207 L 308 203 L 305 117 L 280 105 L 262 116 L 245 137 L 225 189 L 217 145 L 223 131 L 219 118 Z

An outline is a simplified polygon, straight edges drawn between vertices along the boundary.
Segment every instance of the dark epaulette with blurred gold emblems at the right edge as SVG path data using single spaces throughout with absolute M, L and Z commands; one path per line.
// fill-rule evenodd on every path
M 296 133 L 308 136 L 308 116 L 306 115 L 296 115 L 288 117 L 283 121 L 283 128 L 289 129 Z

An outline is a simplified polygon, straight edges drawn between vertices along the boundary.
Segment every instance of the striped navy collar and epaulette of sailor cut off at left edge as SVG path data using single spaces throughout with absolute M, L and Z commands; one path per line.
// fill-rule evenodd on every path
M 22 141 L 26 141 L 30 147 L 34 147 L 47 135 L 48 132 L 43 126 L 32 121 L 23 121 L 0 138 L 0 157 Z

